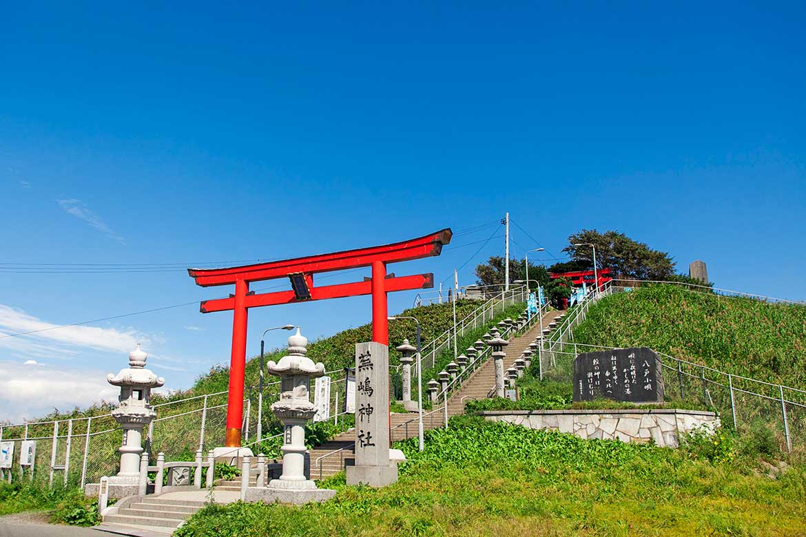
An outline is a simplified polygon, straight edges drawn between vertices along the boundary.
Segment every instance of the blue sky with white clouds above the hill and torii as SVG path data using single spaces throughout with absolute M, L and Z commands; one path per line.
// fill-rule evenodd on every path
M 806 299 L 802 2 L 491 6 L 5 6 L 0 266 L 54 265 L 0 269 L 0 332 L 230 291 L 185 266 L 459 234 L 505 211 L 513 256 L 618 229 L 681 271 L 703 259 L 719 287 Z M 391 270 L 450 283 L 462 266 L 472 283 L 495 235 Z M 276 324 L 364 324 L 369 300 L 252 310 L 249 349 Z M 195 304 L 89 326 L 0 337 L 0 419 L 108 397 L 133 341 L 169 388 L 229 360 L 231 314 Z

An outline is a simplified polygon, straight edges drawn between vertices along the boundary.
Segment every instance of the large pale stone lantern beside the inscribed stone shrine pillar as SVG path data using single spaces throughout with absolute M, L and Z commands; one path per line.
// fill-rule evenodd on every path
M 306 503 L 322 501 L 335 492 L 317 489 L 314 481 L 305 477 L 305 423 L 314 417 L 317 408 L 308 397 L 310 379 L 322 377 L 325 366 L 305 356 L 308 340 L 300 333 L 289 337 L 289 353 L 280 361 L 269 361 L 269 374 L 280 377 L 280 399 L 272 404 L 272 412 L 283 423 L 283 473 L 268 483 L 268 490 L 256 490 L 251 499 L 264 502 Z M 262 489 L 255 487 L 254 489 Z

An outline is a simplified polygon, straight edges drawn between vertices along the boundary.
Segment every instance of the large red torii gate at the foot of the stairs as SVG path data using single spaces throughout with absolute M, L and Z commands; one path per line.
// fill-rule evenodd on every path
M 388 345 L 386 293 L 434 287 L 434 275 L 387 276 L 386 265 L 439 255 L 442 252 L 442 246 L 451 242 L 451 234 L 451 229 L 446 228 L 409 241 L 371 246 L 359 250 L 345 250 L 333 254 L 319 254 L 255 265 L 218 269 L 188 269 L 190 277 L 202 287 L 235 284 L 235 295 L 230 295 L 228 299 L 204 300 L 200 308 L 202 313 L 228 310 L 234 312 L 230 382 L 226 403 L 226 447 L 241 445 L 243 370 L 246 367 L 248 308 L 372 294 L 372 341 Z M 372 266 L 372 279 L 314 287 L 314 274 L 343 271 L 361 266 Z M 278 278 L 289 278 L 293 291 L 276 291 L 261 295 L 249 291 L 251 282 Z

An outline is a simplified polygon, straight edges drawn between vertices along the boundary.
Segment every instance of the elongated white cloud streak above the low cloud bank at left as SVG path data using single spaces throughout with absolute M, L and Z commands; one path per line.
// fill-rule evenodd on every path
M 9 333 L 35 332 L 21 337 L 3 337 Z M 35 356 L 52 356 L 52 345 L 44 341 L 56 341 L 67 345 L 77 345 L 92 349 L 114 350 L 128 353 L 135 345 L 147 343 L 145 337 L 134 331 L 122 332 L 116 328 L 98 328 L 95 326 L 64 326 L 48 323 L 31 316 L 22 310 L 0 304 L 0 346 L 16 351 L 31 352 Z M 69 351 L 68 351 L 69 352 Z M 75 352 L 75 351 L 73 351 Z

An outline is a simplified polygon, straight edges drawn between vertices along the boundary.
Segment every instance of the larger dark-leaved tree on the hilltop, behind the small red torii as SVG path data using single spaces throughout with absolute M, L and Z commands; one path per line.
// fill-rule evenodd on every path
M 574 246 L 576 243 L 596 245 L 598 268 L 609 268 L 615 278 L 668 279 L 675 274 L 675 262 L 667 252 L 652 250 L 643 242 L 636 242 L 624 233 L 596 229 L 583 229 L 568 238 L 569 246 L 563 249 L 574 261 L 591 264 L 590 246 Z

